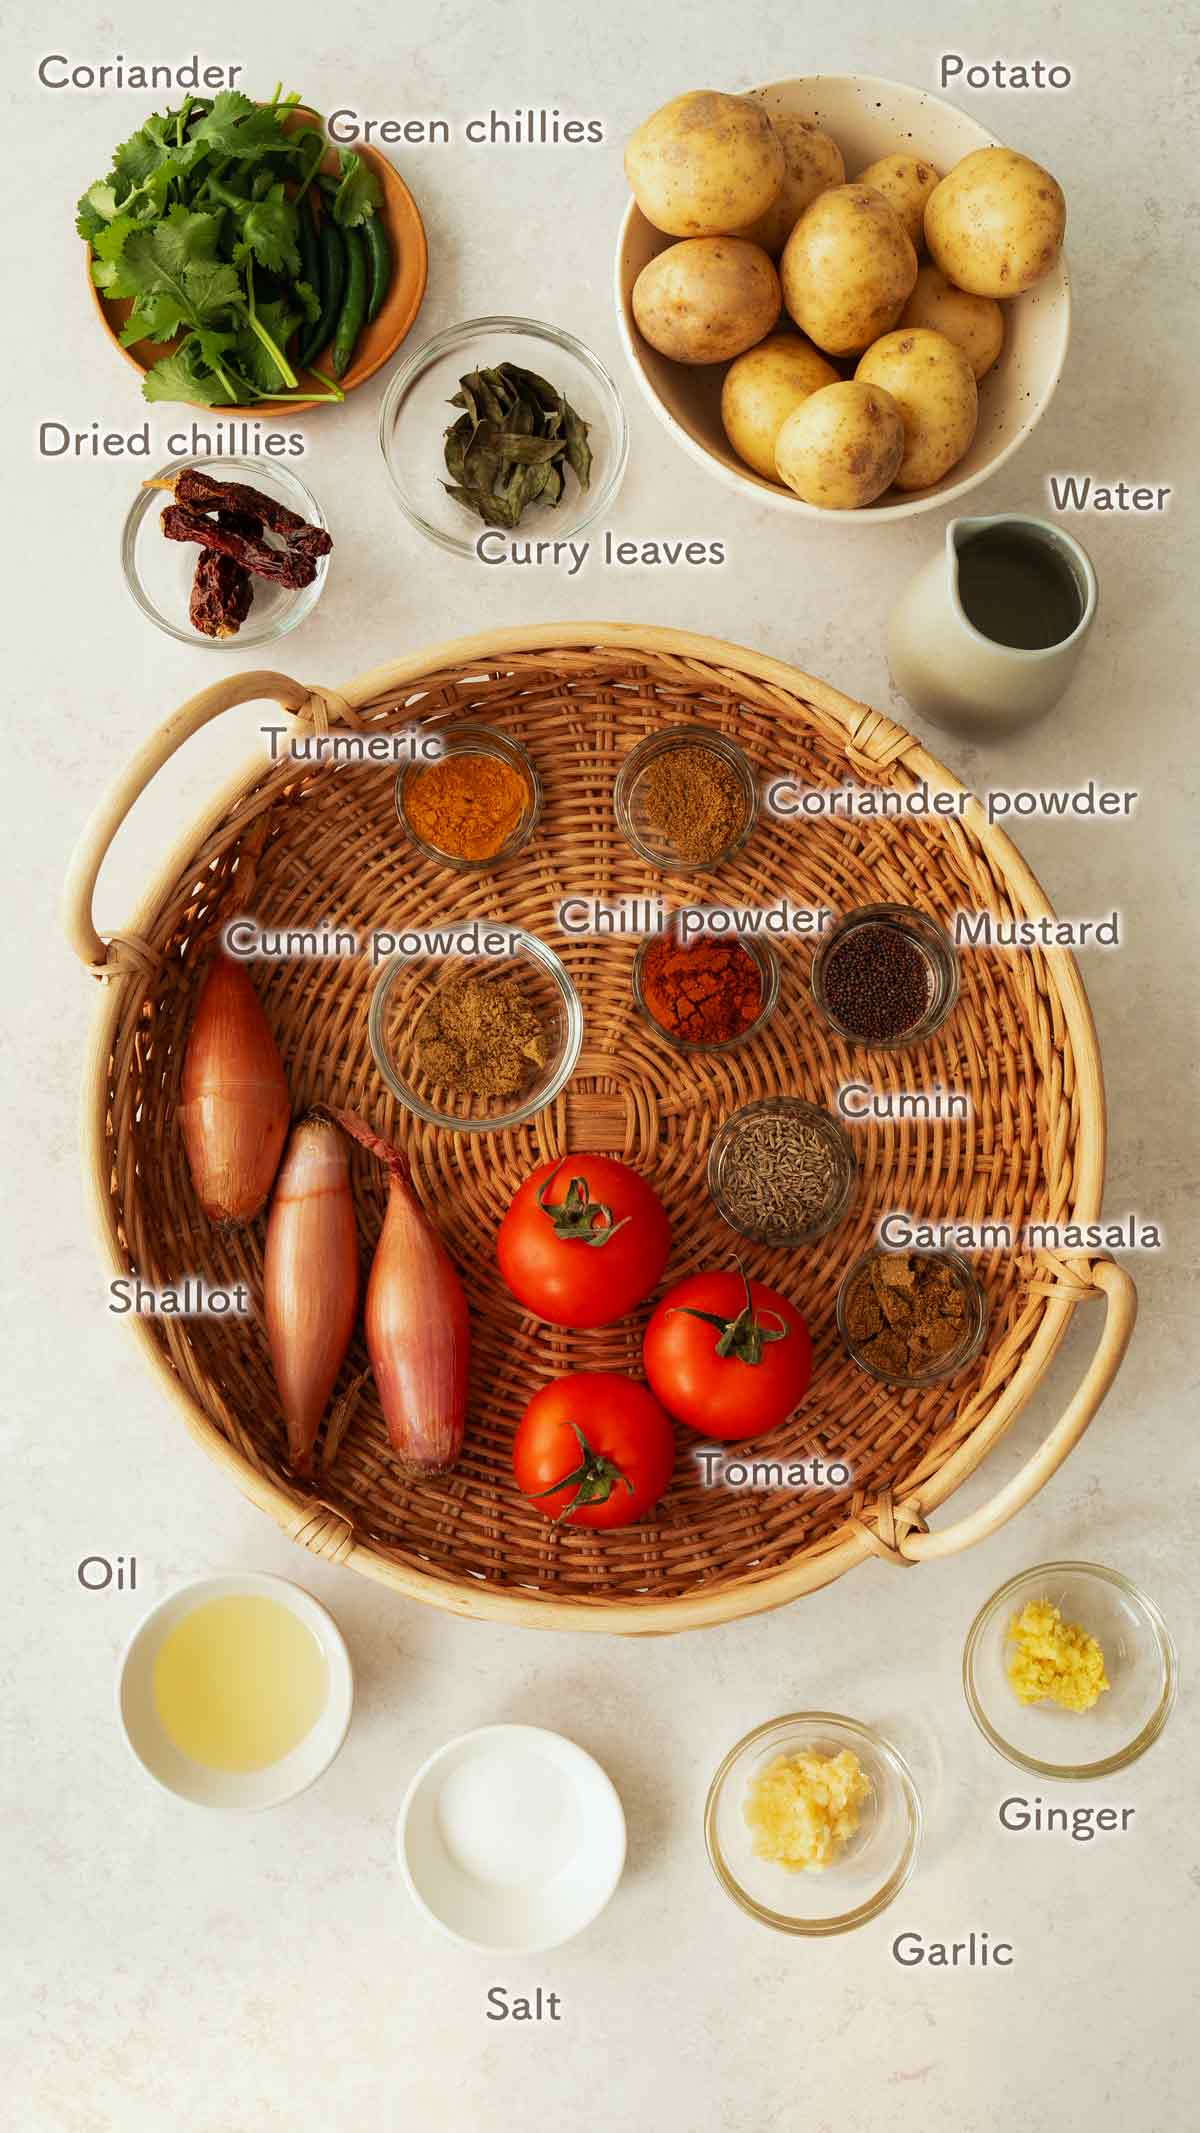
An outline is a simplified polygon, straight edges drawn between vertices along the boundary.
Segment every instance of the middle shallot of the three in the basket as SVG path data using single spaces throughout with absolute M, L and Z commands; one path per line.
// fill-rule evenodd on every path
M 305 1118 L 288 1141 L 266 1220 L 262 1288 L 288 1457 L 307 1474 L 358 1316 L 350 1158 L 326 1118 Z

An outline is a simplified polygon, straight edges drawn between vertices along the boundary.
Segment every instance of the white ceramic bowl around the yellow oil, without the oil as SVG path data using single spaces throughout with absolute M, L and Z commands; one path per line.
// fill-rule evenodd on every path
M 168 1634 L 205 1600 L 264 1598 L 286 1606 L 318 1640 L 326 1662 L 326 1700 L 305 1738 L 264 1770 L 213 1770 L 175 1747 L 153 1700 L 153 1666 Z M 354 1668 L 333 1615 L 288 1578 L 234 1570 L 196 1578 L 168 1593 L 134 1630 L 117 1672 L 117 1717 L 143 1770 L 179 1800 L 196 1807 L 279 1807 L 328 1770 L 354 1711 Z

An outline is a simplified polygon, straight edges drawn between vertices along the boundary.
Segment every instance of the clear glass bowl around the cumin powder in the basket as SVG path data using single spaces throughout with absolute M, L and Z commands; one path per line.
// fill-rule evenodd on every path
M 405 949 L 392 956 L 371 994 L 367 1028 L 375 1066 L 392 1096 L 428 1126 L 448 1126 L 454 1133 L 503 1133 L 546 1109 L 571 1079 L 584 1043 L 584 1009 L 558 956 L 544 941 L 499 919 L 477 919 L 477 928 L 480 934 L 507 934 L 512 953 L 431 956 L 424 949 L 411 953 Z M 431 1081 L 420 1069 L 413 1043 L 418 1017 L 441 985 L 460 977 L 516 977 L 550 1039 L 546 1066 L 533 1071 L 518 1096 L 452 1090 Z

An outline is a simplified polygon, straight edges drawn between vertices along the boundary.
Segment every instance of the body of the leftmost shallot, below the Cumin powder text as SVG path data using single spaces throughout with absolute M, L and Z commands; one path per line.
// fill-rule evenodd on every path
M 213 956 L 200 985 L 181 1094 L 200 1207 L 211 1222 L 254 1222 L 279 1169 L 292 1101 L 262 1000 L 232 956 Z

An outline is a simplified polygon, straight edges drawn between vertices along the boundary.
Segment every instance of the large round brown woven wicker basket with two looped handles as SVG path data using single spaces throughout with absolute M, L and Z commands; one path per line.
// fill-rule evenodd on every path
M 102 941 L 92 894 L 102 857 L 156 770 L 209 719 L 275 700 L 313 729 L 388 729 L 416 712 L 509 727 L 546 783 L 535 845 L 484 877 L 435 868 L 403 840 L 386 768 L 264 766 L 256 757 L 179 843 L 128 932 Z M 727 1621 L 814 1591 L 867 1553 L 893 1563 L 966 1549 L 1042 1487 L 1096 1414 L 1130 1340 L 1136 1293 L 1106 1258 L 993 1254 L 978 1263 L 991 1329 L 976 1363 L 929 1391 L 893 1393 L 842 1354 L 838 1280 L 882 1209 L 914 1216 L 1093 1220 L 1104 1182 L 1104 1088 L 1096 1032 L 1064 951 L 963 958 L 961 1000 L 919 1054 L 874 1056 L 880 1086 L 968 1088 L 970 1124 L 859 1126 L 861 1190 L 850 1218 L 804 1252 L 750 1248 L 748 1267 L 806 1312 L 816 1348 L 810 1395 L 765 1440 L 774 1457 L 853 1465 L 853 1489 L 761 1493 L 703 1489 L 680 1433 L 676 1480 L 656 1517 L 605 1536 L 556 1529 L 514 1489 L 512 1429 L 533 1389 L 580 1367 L 637 1369 L 642 1320 L 561 1333 L 524 1320 L 494 1271 L 497 1222 L 518 1180 L 567 1150 L 607 1150 L 646 1167 L 676 1224 L 671 1276 L 729 1263 L 731 1235 L 703 1190 L 720 1120 L 752 1096 L 791 1090 L 831 1103 L 853 1054 L 808 998 L 810 945 L 782 949 L 782 1000 L 750 1045 L 684 1060 L 656 1043 L 631 1000 L 629 941 L 563 941 L 554 907 L 569 892 L 610 898 L 656 885 L 612 817 L 620 757 L 661 721 L 735 732 L 761 768 L 806 783 L 842 779 L 957 791 L 902 727 L 774 659 L 731 644 L 629 625 L 509 629 L 439 646 L 350 683 L 307 689 L 241 674 L 194 697 L 143 747 L 98 808 L 75 857 L 66 924 L 104 979 L 85 1084 L 85 1165 L 115 1273 L 149 1282 L 202 1273 L 260 1290 L 262 1222 L 222 1237 L 205 1222 L 185 1169 L 175 1105 L 183 1039 L 213 913 L 234 915 L 245 834 L 262 843 L 254 911 L 271 926 L 333 919 L 356 928 L 490 915 L 554 939 L 580 988 L 586 1037 L 567 1092 L 503 1135 L 450 1135 L 396 1111 L 371 1062 L 367 958 L 258 966 L 296 1109 L 324 1101 L 364 1111 L 403 1141 L 428 1207 L 463 1269 L 475 1357 L 467 1448 L 441 1480 L 407 1482 L 388 1457 L 371 1382 L 318 1480 L 286 1465 L 266 1346 L 258 1327 L 220 1318 L 130 1318 L 134 1337 L 205 1450 L 294 1540 L 384 1585 L 460 1615 L 569 1630 L 648 1634 Z M 266 828 L 262 828 L 266 815 Z M 1049 913 L 1015 847 L 968 817 L 906 825 L 763 819 L 727 866 L 729 902 L 912 902 L 948 921 L 959 907 Z M 686 889 L 676 900 L 686 900 Z M 356 1156 L 367 1244 L 382 1220 L 377 1167 Z M 978 1468 L 1047 1369 L 1074 1305 L 1104 1297 L 1104 1331 L 1068 1412 L 1027 1465 L 980 1510 L 940 1531 L 936 1510 Z M 364 1367 L 356 1342 L 345 1380 Z M 320 1450 L 318 1450 L 320 1461 Z

